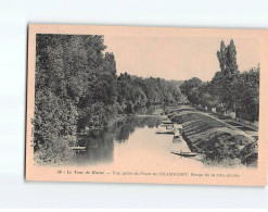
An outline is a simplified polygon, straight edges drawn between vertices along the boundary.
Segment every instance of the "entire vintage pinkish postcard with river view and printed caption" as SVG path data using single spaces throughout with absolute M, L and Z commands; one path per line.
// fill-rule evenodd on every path
M 26 180 L 266 186 L 268 30 L 28 26 Z

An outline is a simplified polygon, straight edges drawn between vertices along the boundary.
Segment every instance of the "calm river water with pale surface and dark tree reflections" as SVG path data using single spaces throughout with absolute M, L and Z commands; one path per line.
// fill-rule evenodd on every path
M 87 147 L 72 161 L 76 166 L 126 167 L 203 167 L 194 158 L 183 158 L 171 152 L 190 151 L 184 140 L 173 142 L 173 135 L 156 134 L 159 116 L 131 116 L 109 129 L 92 130 L 79 137 L 79 146 Z

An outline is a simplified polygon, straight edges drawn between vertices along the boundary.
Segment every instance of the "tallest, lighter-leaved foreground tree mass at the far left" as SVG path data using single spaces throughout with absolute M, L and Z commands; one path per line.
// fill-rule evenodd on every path
M 106 48 L 102 36 L 38 34 L 36 42 L 34 150 L 43 162 L 60 162 L 72 154 L 67 147 L 76 142 L 78 123 L 86 114 L 81 102 L 92 99 L 87 92 L 92 73 L 103 73 L 100 66 L 112 57 L 102 54 Z

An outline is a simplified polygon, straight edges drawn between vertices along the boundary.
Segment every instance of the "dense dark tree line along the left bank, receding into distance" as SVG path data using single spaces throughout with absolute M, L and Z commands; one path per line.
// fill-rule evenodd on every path
M 85 128 L 105 127 L 118 114 L 180 101 L 175 82 L 117 75 L 99 35 L 36 36 L 34 150 L 42 162 L 64 161 Z

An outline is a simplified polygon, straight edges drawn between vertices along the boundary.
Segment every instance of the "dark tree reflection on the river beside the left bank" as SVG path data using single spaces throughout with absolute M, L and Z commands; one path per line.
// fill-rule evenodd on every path
M 87 149 L 76 155 L 75 162 L 80 165 L 111 163 L 114 160 L 114 142 L 127 142 L 137 128 L 153 128 L 159 124 L 158 116 L 128 116 L 111 128 L 91 130 L 89 135 L 79 136 L 78 145 Z

